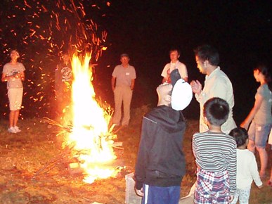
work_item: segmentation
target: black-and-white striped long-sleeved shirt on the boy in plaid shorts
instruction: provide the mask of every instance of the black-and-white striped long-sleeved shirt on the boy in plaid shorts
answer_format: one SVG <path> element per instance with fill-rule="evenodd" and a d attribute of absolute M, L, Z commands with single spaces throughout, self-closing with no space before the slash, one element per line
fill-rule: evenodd
<path fill-rule="evenodd" d="M 226 170 L 230 179 L 230 193 L 236 189 L 236 143 L 228 134 L 202 132 L 193 135 L 193 154 L 196 165 L 209 172 Z"/>

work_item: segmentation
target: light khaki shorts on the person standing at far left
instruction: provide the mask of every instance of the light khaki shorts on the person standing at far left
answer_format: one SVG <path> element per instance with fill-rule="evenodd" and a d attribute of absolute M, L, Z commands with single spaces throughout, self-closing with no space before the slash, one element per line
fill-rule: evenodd
<path fill-rule="evenodd" d="M 22 88 L 8 89 L 8 101 L 10 110 L 20 110 L 22 106 Z"/>

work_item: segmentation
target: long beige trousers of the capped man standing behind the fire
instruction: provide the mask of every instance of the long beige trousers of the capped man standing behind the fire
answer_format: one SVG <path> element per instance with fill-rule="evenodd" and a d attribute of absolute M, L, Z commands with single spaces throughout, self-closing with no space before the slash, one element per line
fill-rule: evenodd
<path fill-rule="evenodd" d="M 113 123 L 120 125 L 122 117 L 122 103 L 124 108 L 124 115 L 122 125 L 129 125 L 130 119 L 130 103 L 133 91 L 130 87 L 115 87 L 115 114 L 113 115 Z"/>

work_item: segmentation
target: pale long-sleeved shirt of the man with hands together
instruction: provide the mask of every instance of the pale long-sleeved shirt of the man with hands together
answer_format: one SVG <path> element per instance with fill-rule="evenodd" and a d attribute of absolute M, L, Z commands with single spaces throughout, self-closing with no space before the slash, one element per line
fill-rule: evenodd
<path fill-rule="evenodd" d="M 209 128 L 205 124 L 203 116 L 203 106 L 210 98 L 219 97 L 224 99 L 230 108 L 228 120 L 221 126 L 221 130 L 225 133 L 231 132 L 235 128 L 233 120 L 233 86 L 228 76 L 217 67 L 210 75 L 206 75 L 205 85 L 200 94 L 195 94 L 196 100 L 200 103 L 200 132 L 206 132 Z"/>

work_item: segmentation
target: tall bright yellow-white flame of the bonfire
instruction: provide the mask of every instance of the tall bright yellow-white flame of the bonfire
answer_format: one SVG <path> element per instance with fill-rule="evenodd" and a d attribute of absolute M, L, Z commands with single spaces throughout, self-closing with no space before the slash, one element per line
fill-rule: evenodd
<path fill-rule="evenodd" d="M 110 162 L 116 159 L 112 148 L 114 135 L 108 132 L 111 115 L 95 99 L 90 60 L 91 54 L 86 54 L 84 63 L 75 55 L 72 58 L 73 129 L 67 142 L 68 145 L 75 145 L 75 150 L 80 152 L 80 167 L 84 169 L 84 181 L 87 183 L 117 174 L 114 167 L 109 167 Z"/>

